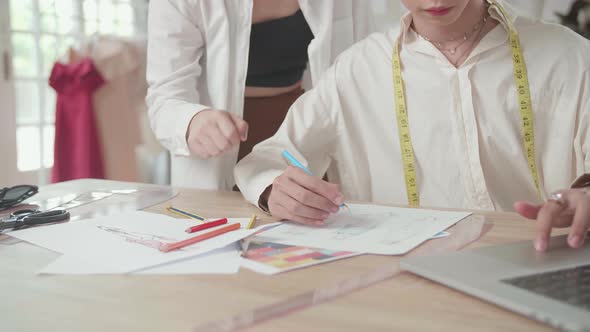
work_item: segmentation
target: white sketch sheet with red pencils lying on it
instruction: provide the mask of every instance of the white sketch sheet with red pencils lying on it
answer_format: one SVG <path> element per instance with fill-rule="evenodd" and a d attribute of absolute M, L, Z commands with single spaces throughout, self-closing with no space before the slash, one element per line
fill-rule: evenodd
<path fill-rule="evenodd" d="M 248 222 L 248 218 L 228 219 L 228 224 L 246 226 Z M 162 242 L 176 242 L 198 235 L 185 232 L 194 225 L 196 222 L 191 219 L 134 211 L 20 230 L 8 235 L 84 259 L 93 265 L 109 266 L 113 273 L 128 273 L 223 248 L 259 230 L 258 227 L 241 228 L 168 253 L 156 249 Z"/>

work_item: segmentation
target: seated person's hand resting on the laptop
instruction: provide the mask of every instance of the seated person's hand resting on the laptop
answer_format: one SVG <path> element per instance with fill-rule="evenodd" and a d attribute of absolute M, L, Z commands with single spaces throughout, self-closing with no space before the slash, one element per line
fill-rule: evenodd
<path fill-rule="evenodd" d="M 541 205 L 517 202 L 514 209 L 525 218 L 537 220 L 535 248 L 538 251 L 547 249 L 554 227 L 571 226 L 567 242 L 570 247 L 579 248 L 590 227 L 590 188 L 558 191 Z"/>

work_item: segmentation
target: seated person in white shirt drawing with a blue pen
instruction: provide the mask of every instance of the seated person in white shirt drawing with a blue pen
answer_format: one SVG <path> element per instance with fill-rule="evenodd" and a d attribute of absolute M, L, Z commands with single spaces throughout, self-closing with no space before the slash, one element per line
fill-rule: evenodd
<path fill-rule="evenodd" d="M 311 224 L 345 198 L 515 208 L 537 219 L 538 250 L 572 224 L 581 246 L 590 194 L 566 188 L 590 170 L 590 43 L 499 0 L 402 2 L 401 32 L 342 54 L 237 165 L 244 196 Z M 339 185 L 287 167 L 283 150 Z"/>

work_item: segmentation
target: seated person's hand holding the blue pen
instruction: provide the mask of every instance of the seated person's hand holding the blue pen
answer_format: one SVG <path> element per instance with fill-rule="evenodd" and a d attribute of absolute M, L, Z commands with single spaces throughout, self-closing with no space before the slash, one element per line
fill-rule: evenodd
<path fill-rule="evenodd" d="M 289 166 L 269 188 L 266 201 L 270 213 L 302 224 L 321 225 L 344 203 L 337 184 L 311 176 L 295 166 Z"/>

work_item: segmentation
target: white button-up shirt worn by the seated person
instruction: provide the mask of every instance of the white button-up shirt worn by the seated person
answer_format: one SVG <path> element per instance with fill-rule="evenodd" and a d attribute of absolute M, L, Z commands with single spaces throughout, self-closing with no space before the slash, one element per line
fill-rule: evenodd
<path fill-rule="evenodd" d="M 502 4 L 520 34 L 534 113 L 542 195 L 590 171 L 590 43 Z M 500 20 L 455 68 L 402 19 L 401 61 L 422 206 L 511 210 L 538 201 L 523 146 L 507 24 Z M 392 50 L 399 31 L 373 34 L 342 54 L 291 108 L 271 139 L 236 167 L 257 204 L 289 150 L 328 172 L 346 199 L 407 204 L 396 122 Z"/>

